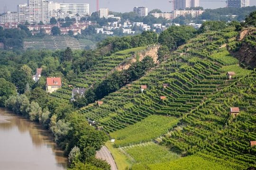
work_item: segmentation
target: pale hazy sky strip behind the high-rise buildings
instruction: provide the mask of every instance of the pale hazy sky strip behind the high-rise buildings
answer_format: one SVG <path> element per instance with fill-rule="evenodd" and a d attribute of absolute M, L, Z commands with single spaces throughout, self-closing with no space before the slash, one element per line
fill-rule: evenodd
<path fill-rule="evenodd" d="M 89 3 L 90 12 L 96 11 L 96 0 L 50 0 L 54 2 L 65 3 Z M 163 12 L 172 10 L 170 0 L 100 0 L 100 8 L 109 8 L 111 11 L 116 12 L 129 12 L 135 6 L 146 6 L 148 10 L 155 8 L 161 9 Z M 203 8 L 223 8 L 225 2 L 210 2 L 211 0 L 203 0 L 200 6 Z M 214 1 L 214 0 L 213 0 Z M 217 0 L 221 1 L 221 0 Z M 224 1 L 224 0 L 223 0 Z M 3 12 L 4 6 L 7 6 L 9 11 L 17 11 L 18 4 L 27 3 L 27 0 L 0 0 L 0 12 Z M 256 5 L 256 0 L 250 0 L 250 5 Z"/>

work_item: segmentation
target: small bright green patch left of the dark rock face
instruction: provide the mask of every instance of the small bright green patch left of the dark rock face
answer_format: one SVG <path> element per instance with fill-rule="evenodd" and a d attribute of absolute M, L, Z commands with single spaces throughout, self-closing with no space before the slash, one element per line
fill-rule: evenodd
<path fill-rule="evenodd" d="M 229 51 L 226 49 L 224 51 L 212 54 L 211 57 L 224 62 L 226 66 L 232 65 L 232 64 L 238 64 L 238 59 L 232 57 Z"/>

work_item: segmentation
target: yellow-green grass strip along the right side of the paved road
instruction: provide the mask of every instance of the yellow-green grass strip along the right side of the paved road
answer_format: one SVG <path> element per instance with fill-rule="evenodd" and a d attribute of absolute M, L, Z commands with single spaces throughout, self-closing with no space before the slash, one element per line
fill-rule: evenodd
<path fill-rule="evenodd" d="M 121 153 L 118 148 L 114 148 L 110 141 L 105 145 L 114 157 L 118 170 L 126 170 L 127 167 L 131 167 L 130 159 L 125 154 Z"/>

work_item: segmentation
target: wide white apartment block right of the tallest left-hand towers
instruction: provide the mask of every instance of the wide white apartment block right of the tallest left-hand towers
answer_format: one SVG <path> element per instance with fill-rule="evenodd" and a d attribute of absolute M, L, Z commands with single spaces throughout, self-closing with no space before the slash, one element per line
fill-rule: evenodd
<path fill-rule="evenodd" d="M 80 16 L 86 16 L 89 15 L 89 4 L 61 3 L 60 10 L 70 12 L 73 15 L 79 14 Z"/>

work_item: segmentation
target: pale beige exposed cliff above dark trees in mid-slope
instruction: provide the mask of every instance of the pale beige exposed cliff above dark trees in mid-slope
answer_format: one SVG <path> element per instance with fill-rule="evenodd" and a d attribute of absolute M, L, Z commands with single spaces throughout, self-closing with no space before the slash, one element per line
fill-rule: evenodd
<path fill-rule="evenodd" d="M 153 59 L 153 61 L 155 63 L 157 63 L 157 51 L 159 49 L 160 46 L 155 45 L 152 47 L 147 47 L 146 50 L 138 52 L 137 54 L 133 55 L 130 59 L 128 59 L 126 62 L 121 63 L 119 66 L 117 66 L 116 68 L 114 68 L 114 70 L 117 71 L 121 71 L 121 70 L 127 70 L 132 63 L 135 63 L 137 61 L 137 59 L 139 61 L 141 61 L 142 59 L 144 59 L 146 56 L 149 56 Z"/>

